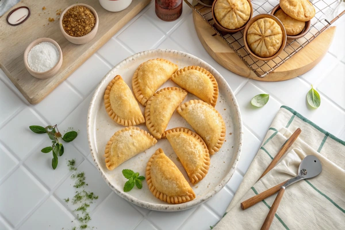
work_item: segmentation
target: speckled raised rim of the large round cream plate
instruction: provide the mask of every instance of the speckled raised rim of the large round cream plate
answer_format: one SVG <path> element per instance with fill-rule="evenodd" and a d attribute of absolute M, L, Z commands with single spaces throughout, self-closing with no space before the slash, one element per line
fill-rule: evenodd
<path fill-rule="evenodd" d="M 237 151 L 235 153 L 235 156 L 234 156 L 235 157 L 234 164 L 231 166 L 231 169 L 230 169 L 229 173 L 226 174 L 224 179 L 221 180 L 221 182 L 219 184 L 217 184 L 217 186 L 215 186 L 215 188 L 212 191 L 210 191 L 209 193 L 206 194 L 206 197 L 204 196 L 204 197 L 202 197 L 202 199 L 195 199 L 195 200 L 191 200 L 191 201 L 188 201 L 188 202 L 185 202 L 185 203 L 180 203 L 180 204 L 169 204 L 169 203 L 166 203 L 166 204 L 155 204 L 155 203 L 149 203 L 149 202 L 146 202 L 146 201 L 139 200 L 139 199 L 131 196 L 130 194 L 128 194 L 126 192 L 123 192 L 123 191 L 120 191 L 120 190 L 116 189 L 114 186 L 112 186 L 112 184 L 108 180 L 108 178 L 105 177 L 105 173 L 101 170 L 99 164 L 96 162 L 96 154 L 97 154 L 97 152 L 96 152 L 96 150 L 94 150 L 92 148 L 92 145 L 91 145 L 91 122 L 92 121 L 90 120 L 90 117 L 91 117 L 90 114 L 92 112 L 92 108 L 95 107 L 95 102 L 96 102 L 96 97 L 98 95 L 98 92 L 100 91 L 100 88 L 102 87 L 103 82 L 105 81 L 107 76 L 110 74 L 110 72 L 112 72 L 114 69 L 116 69 L 122 63 L 127 62 L 128 60 L 134 60 L 134 58 L 136 58 L 136 57 L 141 57 L 142 55 L 145 55 L 145 53 L 166 53 L 166 52 L 177 52 L 178 54 L 182 54 L 184 56 L 194 58 L 194 59 L 200 61 L 201 63 L 205 64 L 209 68 L 211 68 L 211 71 L 216 72 L 221 78 L 223 78 L 223 81 L 226 84 L 227 89 L 229 90 L 228 93 L 230 93 L 231 97 L 233 98 L 233 103 L 234 103 L 234 106 L 236 108 L 236 112 L 234 112 L 234 114 L 236 114 L 237 117 L 238 117 L 238 129 L 239 129 L 238 149 L 237 149 Z M 93 95 L 92 95 L 92 98 L 91 98 L 91 101 L 90 101 L 90 104 L 89 104 L 89 108 L 88 108 L 88 113 L 87 113 L 87 137 L 88 137 L 89 149 L 90 149 L 90 152 L 91 152 L 92 160 L 93 160 L 96 168 L 100 172 L 103 180 L 105 180 L 105 182 L 111 188 L 111 190 L 113 190 L 121 198 L 124 198 L 125 200 L 127 200 L 127 201 L 129 201 L 131 203 L 134 203 L 135 205 L 137 205 L 139 207 L 150 209 L 150 210 L 155 210 L 155 211 L 181 211 L 181 210 L 186 210 L 186 209 L 190 209 L 190 208 L 196 207 L 199 204 L 207 201 L 209 198 L 211 198 L 216 193 L 218 193 L 226 185 L 226 183 L 231 179 L 231 177 L 233 176 L 233 174 L 234 174 L 234 172 L 235 172 L 235 170 L 237 168 L 238 161 L 240 159 L 240 155 L 241 155 L 241 151 L 242 151 L 242 146 L 243 146 L 243 122 L 242 122 L 240 108 L 239 108 L 239 105 L 238 105 L 238 102 L 237 102 L 237 99 L 235 97 L 235 94 L 234 94 L 233 90 L 230 88 L 228 82 L 224 79 L 224 77 L 214 67 L 212 67 L 210 64 L 208 64 L 206 61 L 204 61 L 204 60 L 194 56 L 193 54 L 190 54 L 190 53 L 187 53 L 187 52 L 184 52 L 184 51 L 178 51 L 178 50 L 173 50 L 173 49 L 150 49 L 150 50 L 144 50 L 144 51 L 140 51 L 140 52 L 137 52 L 135 54 L 132 54 L 131 56 L 129 56 L 129 57 L 125 58 L 124 60 L 118 62 L 100 80 L 100 82 L 98 83 L 97 87 L 93 91 Z"/>

